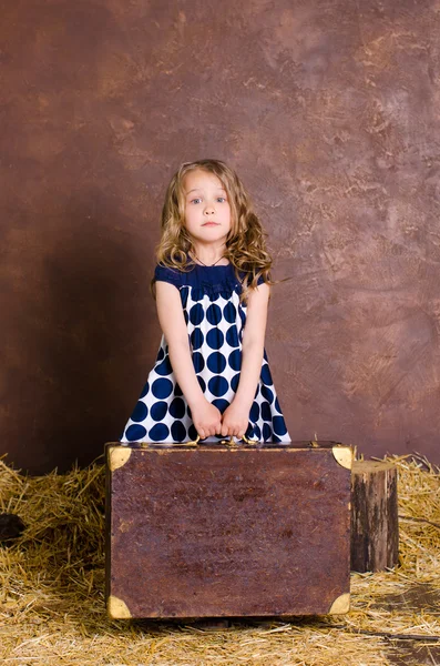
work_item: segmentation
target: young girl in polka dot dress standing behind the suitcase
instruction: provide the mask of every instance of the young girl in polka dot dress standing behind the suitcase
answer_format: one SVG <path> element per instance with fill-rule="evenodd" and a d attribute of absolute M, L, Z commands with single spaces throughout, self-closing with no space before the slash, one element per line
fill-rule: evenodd
<path fill-rule="evenodd" d="M 175 173 L 157 260 L 162 342 L 121 442 L 290 442 L 264 351 L 272 260 L 225 163 Z"/>

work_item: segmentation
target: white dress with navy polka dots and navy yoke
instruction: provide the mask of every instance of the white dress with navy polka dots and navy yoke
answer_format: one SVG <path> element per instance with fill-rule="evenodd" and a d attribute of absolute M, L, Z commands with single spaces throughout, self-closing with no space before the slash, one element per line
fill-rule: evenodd
<path fill-rule="evenodd" d="M 246 304 L 232 264 L 195 265 L 190 272 L 156 266 L 157 281 L 174 284 L 181 294 L 194 370 L 206 398 L 222 413 L 239 382 Z M 164 336 L 154 367 L 125 425 L 122 444 L 131 442 L 186 442 L 197 433 L 191 410 L 176 383 Z M 266 352 L 246 437 L 260 442 L 290 442 L 275 392 Z M 205 442 L 218 442 L 211 436 Z"/>

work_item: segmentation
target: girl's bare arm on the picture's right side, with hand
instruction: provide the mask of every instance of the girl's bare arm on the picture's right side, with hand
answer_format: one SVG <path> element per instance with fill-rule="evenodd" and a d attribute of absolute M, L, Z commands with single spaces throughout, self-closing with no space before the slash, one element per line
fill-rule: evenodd
<path fill-rule="evenodd" d="M 269 285 L 263 283 L 250 290 L 248 295 L 239 383 L 233 402 L 223 414 L 224 437 L 234 435 L 242 438 L 249 424 L 249 412 L 262 373 L 269 294 Z"/>

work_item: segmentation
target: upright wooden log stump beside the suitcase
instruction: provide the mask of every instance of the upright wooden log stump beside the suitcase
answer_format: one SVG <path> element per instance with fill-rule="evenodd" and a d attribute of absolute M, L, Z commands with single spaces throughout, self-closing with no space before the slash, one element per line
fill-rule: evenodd
<path fill-rule="evenodd" d="M 351 571 L 379 572 L 399 557 L 397 467 L 355 461 L 351 470 Z"/>

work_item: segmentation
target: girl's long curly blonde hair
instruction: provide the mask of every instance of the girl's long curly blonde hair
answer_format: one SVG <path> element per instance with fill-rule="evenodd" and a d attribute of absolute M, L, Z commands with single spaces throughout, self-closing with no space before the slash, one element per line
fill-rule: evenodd
<path fill-rule="evenodd" d="M 227 192 L 232 224 L 226 239 L 225 258 L 233 264 L 236 276 L 243 284 L 242 299 L 246 299 L 249 289 L 257 286 L 260 276 L 267 284 L 274 284 L 269 274 L 273 262 L 266 250 L 266 233 L 238 175 L 221 160 L 184 162 L 171 179 L 162 209 L 162 238 L 156 248 L 157 262 L 180 271 L 194 268 L 190 258 L 194 248 L 185 228 L 183 188 L 185 176 L 191 171 L 213 173 Z"/>

